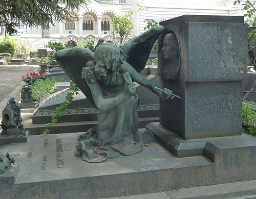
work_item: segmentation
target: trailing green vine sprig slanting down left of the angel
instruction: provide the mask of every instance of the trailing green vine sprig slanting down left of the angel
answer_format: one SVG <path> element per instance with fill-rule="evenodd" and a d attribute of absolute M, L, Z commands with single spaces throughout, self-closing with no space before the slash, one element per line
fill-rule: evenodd
<path fill-rule="evenodd" d="M 70 86 L 70 90 L 71 92 L 67 94 L 66 100 L 60 105 L 60 107 L 56 108 L 56 113 L 52 115 L 52 121 L 50 123 L 47 123 L 46 129 L 42 135 L 47 135 L 50 133 L 49 128 L 54 127 L 54 124 L 58 121 L 57 117 L 64 116 L 68 105 L 73 102 L 73 99 L 74 99 L 73 95 L 74 94 L 79 95 L 78 87 L 75 84 L 73 86 Z"/>

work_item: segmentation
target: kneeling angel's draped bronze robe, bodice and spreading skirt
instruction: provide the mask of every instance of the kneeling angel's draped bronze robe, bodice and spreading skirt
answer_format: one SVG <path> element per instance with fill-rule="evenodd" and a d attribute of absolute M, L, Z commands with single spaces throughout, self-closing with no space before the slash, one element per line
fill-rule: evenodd
<path fill-rule="evenodd" d="M 99 82 L 103 98 L 113 98 L 127 89 L 122 74 L 113 72 Z M 98 111 L 98 125 L 80 135 L 75 151 L 88 162 L 104 162 L 120 155 L 133 155 L 143 150 L 142 138 L 152 139 L 150 132 L 139 130 L 138 100 L 130 97 L 109 111 Z"/>

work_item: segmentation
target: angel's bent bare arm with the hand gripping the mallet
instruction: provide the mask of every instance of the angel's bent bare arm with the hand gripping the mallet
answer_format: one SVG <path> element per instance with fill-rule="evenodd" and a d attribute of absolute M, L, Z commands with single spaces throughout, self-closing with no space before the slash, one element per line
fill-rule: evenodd
<path fill-rule="evenodd" d="M 136 91 L 135 84 L 133 83 L 130 84 L 128 89 L 120 95 L 113 98 L 103 98 L 103 94 L 98 82 L 88 83 L 88 85 L 92 91 L 95 105 L 101 112 L 109 111 L 110 109 L 118 106 L 126 99 L 130 98 L 134 94 L 134 91 Z"/>

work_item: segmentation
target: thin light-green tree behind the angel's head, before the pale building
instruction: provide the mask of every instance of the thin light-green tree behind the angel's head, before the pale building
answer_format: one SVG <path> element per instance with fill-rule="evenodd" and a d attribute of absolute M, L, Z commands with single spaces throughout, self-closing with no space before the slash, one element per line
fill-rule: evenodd
<path fill-rule="evenodd" d="M 132 36 L 134 29 L 132 15 L 134 14 L 134 12 L 135 10 L 131 10 L 124 15 L 116 15 L 113 17 L 112 25 L 115 44 L 122 45 L 127 39 Z"/>

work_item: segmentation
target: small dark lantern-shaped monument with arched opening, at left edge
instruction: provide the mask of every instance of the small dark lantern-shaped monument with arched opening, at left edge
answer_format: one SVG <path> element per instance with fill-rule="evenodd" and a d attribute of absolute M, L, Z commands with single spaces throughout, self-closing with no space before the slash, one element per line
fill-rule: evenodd
<path fill-rule="evenodd" d="M 14 98 L 3 110 L 2 133 L 0 134 L 0 145 L 17 142 L 27 142 L 28 131 L 22 124 L 22 116 L 20 116 L 20 106 L 17 105 Z"/>

